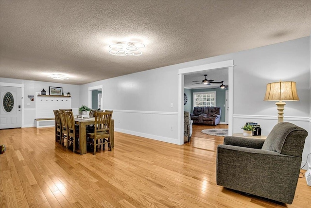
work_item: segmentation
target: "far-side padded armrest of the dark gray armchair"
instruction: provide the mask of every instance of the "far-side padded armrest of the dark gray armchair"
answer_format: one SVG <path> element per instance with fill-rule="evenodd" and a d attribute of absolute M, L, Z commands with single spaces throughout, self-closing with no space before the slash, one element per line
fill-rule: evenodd
<path fill-rule="evenodd" d="M 224 145 L 261 149 L 265 139 L 244 138 L 238 136 L 225 136 Z"/>

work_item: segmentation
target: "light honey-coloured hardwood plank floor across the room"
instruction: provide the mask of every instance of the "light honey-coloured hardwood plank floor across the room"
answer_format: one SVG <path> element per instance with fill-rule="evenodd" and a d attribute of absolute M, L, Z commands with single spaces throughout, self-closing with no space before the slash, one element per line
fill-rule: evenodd
<path fill-rule="evenodd" d="M 1 208 L 311 208 L 300 178 L 292 205 L 217 186 L 216 147 L 223 137 L 194 126 L 190 143 L 168 144 L 115 132 L 112 151 L 73 153 L 54 128 L 0 130 Z M 217 125 L 212 128 L 227 128 Z"/>

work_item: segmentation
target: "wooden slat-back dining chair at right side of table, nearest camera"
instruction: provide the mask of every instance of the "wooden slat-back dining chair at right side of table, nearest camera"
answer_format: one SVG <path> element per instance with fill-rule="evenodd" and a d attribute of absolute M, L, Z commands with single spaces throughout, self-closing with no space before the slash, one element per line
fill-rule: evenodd
<path fill-rule="evenodd" d="M 112 112 L 96 112 L 95 117 L 95 131 L 94 133 L 87 133 L 87 144 L 93 146 L 93 154 L 96 153 L 97 146 L 103 145 L 103 150 L 105 149 L 105 144 L 108 144 L 108 149 L 111 151 L 110 143 L 110 124 Z"/>

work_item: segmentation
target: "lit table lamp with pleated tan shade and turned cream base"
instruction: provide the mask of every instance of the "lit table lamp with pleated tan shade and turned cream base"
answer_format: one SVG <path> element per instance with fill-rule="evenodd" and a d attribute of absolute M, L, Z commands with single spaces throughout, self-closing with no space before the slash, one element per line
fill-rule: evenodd
<path fill-rule="evenodd" d="M 283 122 L 283 111 L 285 102 L 282 101 L 298 101 L 299 97 L 296 90 L 296 82 L 273 82 L 267 84 L 266 95 L 264 101 L 277 101 L 278 110 L 277 123 Z"/>

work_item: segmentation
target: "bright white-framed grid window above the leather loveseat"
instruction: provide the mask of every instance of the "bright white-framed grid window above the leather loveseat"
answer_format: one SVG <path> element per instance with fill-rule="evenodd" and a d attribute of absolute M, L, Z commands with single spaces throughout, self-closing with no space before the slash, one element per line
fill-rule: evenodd
<path fill-rule="evenodd" d="M 216 92 L 193 93 L 194 107 L 215 107 Z"/>

